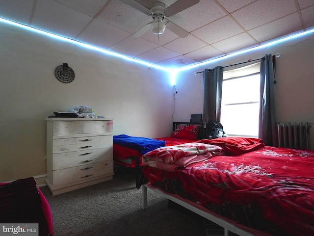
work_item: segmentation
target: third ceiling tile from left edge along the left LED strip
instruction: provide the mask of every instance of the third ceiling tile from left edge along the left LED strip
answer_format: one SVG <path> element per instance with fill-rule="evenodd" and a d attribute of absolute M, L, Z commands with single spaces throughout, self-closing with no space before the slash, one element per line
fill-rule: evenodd
<path fill-rule="evenodd" d="M 130 36 L 130 33 L 94 20 L 77 38 L 78 41 L 109 49 Z"/>

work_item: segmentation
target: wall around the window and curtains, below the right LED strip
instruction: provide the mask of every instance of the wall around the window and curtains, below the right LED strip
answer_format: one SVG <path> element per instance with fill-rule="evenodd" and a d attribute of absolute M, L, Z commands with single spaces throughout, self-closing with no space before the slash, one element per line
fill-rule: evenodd
<path fill-rule="evenodd" d="M 204 69 L 228 66 L 280 53 L 276 58 L 276 114 L 279 122 L 314 123 L 314 33 L 273 44 L 248 53 L 214 60 L 177 74 L 175 121 L 188 121 L 190 114 L 203 113 Z M 245 65 L 245 64 L 244 64 Z M 314 124 L 311 128 L 311 149 L 314 150 Z"/>

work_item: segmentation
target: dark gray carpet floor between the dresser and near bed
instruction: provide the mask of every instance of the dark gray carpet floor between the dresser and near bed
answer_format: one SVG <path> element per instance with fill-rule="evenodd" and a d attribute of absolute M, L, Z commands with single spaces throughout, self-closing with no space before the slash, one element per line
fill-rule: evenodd
<path fill-rule="evenodd" d="M 53 217 L 54 236 L 216 236 L 209 221 L 148 189 L 142 209 L 142 189 L 135 173 L 115 167 L 113 180 L 52 196 L 42 187 Z M 171 204 L 171 206 L 173 206 Z M 214 231 L 216 232 L 216 231 Z M 223 232 L 222 232 L 223 233 Z"/>

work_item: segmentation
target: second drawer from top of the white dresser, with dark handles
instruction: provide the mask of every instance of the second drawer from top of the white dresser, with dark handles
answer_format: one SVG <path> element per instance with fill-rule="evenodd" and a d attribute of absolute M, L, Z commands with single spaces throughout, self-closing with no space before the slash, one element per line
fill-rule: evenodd
<path fill-rule="evenodd" d="M 52 141 L 52 153 L 68 153 L 112 146 L 112 135 L 59 138 Z"/>

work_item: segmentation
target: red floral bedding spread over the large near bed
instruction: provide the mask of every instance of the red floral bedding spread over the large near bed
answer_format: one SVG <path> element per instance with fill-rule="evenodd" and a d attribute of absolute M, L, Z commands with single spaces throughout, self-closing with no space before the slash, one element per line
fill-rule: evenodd
<path fill-rule="evenodd" d="M 258 139 L 222 141 L 200 141 L 220 146 L 225 150 L 222 155 L 175 172 L 146 166 L 144 178 L 214 212 L 229 211 L 229 215 L 225 212 L 227 217 L 236 215 L 226 210 L 229 205 L 256 206 L 260 221 L 276 228 L 268 229 L 273 235 L 314 235 L 314 151 L 264 146 Z M 166 186 L 167 181 L 172 184 Z M 181 187 L 172 189 L 173 186 Z M 259 222 L 250 227 L 260 227 Z"/>

